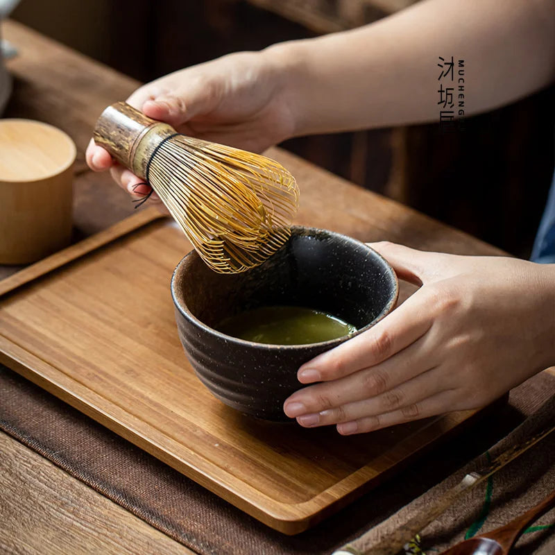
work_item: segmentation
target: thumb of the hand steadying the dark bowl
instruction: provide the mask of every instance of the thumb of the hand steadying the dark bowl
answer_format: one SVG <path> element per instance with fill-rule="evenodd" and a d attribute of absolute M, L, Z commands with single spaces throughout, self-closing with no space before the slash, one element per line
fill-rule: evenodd
<path fill-rule="evenodd" d="M 447 259 L 455 259 L 454 255 L 429 253 L 425 250 L 406 247 L 389 241 L 367 243 L 382 255 L 395 270 L 401 280 L 422 285 L 445 278 Z"/>

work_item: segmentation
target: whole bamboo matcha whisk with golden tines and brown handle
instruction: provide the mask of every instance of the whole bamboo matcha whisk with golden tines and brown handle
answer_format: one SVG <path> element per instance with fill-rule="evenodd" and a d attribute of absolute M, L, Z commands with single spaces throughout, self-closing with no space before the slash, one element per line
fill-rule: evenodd
<path fill-rule="evenodd" d="M 125 102 L 104 110 L 94 142 L 151 185 L 215 271 L 252 268 L 287 241 L 298 187 L 278 162 L 181 135 Z"/>

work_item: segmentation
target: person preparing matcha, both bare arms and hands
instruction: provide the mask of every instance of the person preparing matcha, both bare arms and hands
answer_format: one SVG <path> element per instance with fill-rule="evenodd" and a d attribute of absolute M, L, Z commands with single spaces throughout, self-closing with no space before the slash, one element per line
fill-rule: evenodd
<path fill-rule="evenodd" d="M 472 67 L 470 115 L 555 79 L 554 15 L 555 0 L 422 1 L 353 31 L 178 71 L 141 87 L 130 103 L 182 133 L 263 151 L 294 135 L 435 121 L 430 65 L 455 53 Z M 87 162 L 112 167 L 132 193 L 140 181 L 98 146 L 89 146 Z M 148 193 L 139 187 L 135 194 Z M 285 413 L 305 427 L 368 432 L 477 408 L 554 365 L 549 229 L 540 246 L 550 264 L 373 244 L 420 289 L 375 327 L 307 361 L 298 377 L 311 385 L 291 395 Z"/>

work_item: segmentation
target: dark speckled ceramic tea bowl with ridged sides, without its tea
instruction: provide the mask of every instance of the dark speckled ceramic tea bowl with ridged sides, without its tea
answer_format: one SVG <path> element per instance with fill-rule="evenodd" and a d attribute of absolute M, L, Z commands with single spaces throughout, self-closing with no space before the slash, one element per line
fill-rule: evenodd
<path fill-rule="evenodd" d="M 293 226 L 287 244 L 244 273 L 215 273 L 191 251 L 173 273 L 171 294 L 181 343 L 203 384 L 242 413 L 287 420 L 282 406 L 300 388 L 299 366 L 349 336 L 309 345 L 265 345 L 214 327 L 259 306 L 298 305 L 337 316 L 359 334 L 393 309 L 398 281 L 391 266 L 364 243 Z"/>

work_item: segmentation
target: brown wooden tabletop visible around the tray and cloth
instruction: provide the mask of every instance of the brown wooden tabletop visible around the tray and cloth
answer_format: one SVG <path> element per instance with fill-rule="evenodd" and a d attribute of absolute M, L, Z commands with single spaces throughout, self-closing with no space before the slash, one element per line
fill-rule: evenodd
<path fill-rule="evenodd" d="M 139 83 L 15 22 L 3 24 L 3 36 L 19 49 L 19 56 L 8 62 L 15 83 L 4 117 L 52 123 L 77 144 L 74 221 L 78 236 L 102 230 L 131 214 L 133 205 L 127 194 L 107 175 L 89 171 L 84 151 L 103 108 L 126 99 Z M 272 155 L 285 162 L 300 183 L 303 222 L 333 229 L 334 222 L 341 221 L 353 236 L 367 241 L 388 239 L 425 250 L 500 254 L 298 157 L 278 150 Z M 0 278 L 13 271 L 0 266 Z M 4 552 L 192 553 L 1 432 L 0 487 L 0 547 Z"/>

